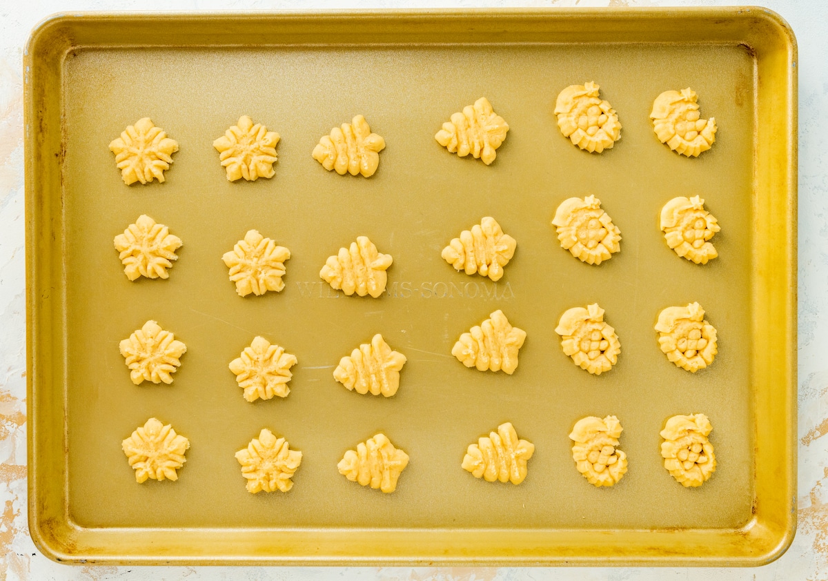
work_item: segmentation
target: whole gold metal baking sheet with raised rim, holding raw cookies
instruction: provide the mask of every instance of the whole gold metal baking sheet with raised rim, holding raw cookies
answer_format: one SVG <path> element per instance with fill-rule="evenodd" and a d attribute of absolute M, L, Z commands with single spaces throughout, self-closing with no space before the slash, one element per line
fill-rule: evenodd
<path fill-rule="evenodd" d="M 691 33 L 673 40 L 669 30 Z M 796 57 L 777 17 L 89 14 L 42 24 L 26 58 L 31 528 L 47 555 L 760 564 L 787 547 Z M 552 113 L 561 89 L 587 80 L 623 125 L 601 155 L 561 137 Z M 657 94 L 686 86 L 719 125 L 713 149 L 692 160 L 657 142 L 648 118 Z M 433 137 L 481 95 L 511 127 L 489 167 Z M 310 157 L 357 113 L 388 144 L 368 180 Z M 212 142 L 243 114 L 282 136 L 272 180 L 229 183 L 219 166 Z M 181 151 L 165 184 L 128 187 L 107 145 L 145 116 Z M 597 267 L 562 250 L 550 225 L 563 199 L 586 194 L 623 236 L 622 252 Z M 720 257 L 706 266 L 676 257 L 658 229 L 662 204 L 694 194 L 722 227 Z M 139 214 L 184 242 L 169 281 L 123 275 L 112 238 Z M 517 239 L 497 284 L 440 257 L 485 215 Z M 228 281 L 220 258 L 250 228 L 291 249 L 282 293 L 241 299 Z M 394 258 L 378 300 L 343 296 L 318 276 L 357 235 Z M 692 300 L 720 336 L 714 365 L 696 375 L 667 361 L 652 329 L 659 310 Z M 554 333 L 564 310 L 596 301 L 622 343 L 601 377 L 575 367 Z M 450 355 L 497 309 L 527 331 L 511 377 Z M 147 319 L 187 345 L 171 386 L 132 385 L 118 353 Z M 388 400 L 346 391 L 331 374 L 374 333 L 408 358 Z M 299 359 L 284 400 L 244 401 L 227 368 L 257 334 Z M 659 454 L 664 420 L 692 412 L 710 417 L 719 461 L 699 489 L 678 485 Z M 575 470 L 567 435 L 580 417 L 608 414 L 623 424 L 629 472 L 596 489 Z M 190 439 L 177 483 L 137 485 L 123 456 L 121 440 L 150 416 Z M 536 445 L 519 487 L 460 469 L 466 446 L 507 420 Z M 287 494 L 244 489 L 233 453 L 262 427 L 302 451 Z M 336 470 L 344 450 L 378 431 L 411 456 L 392 495 Z"/>

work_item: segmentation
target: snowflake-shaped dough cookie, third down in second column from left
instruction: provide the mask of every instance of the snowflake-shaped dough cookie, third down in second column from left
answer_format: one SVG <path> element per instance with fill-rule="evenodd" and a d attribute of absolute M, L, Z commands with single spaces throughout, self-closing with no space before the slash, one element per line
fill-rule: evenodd
<path fill-rule="evenodd" d="M 244 399 L 269 400 L 273 396 L 287 397 L 291 392 L 291 367 L 296 365 L 296 355 L 285 353 L 278 345 L 272 345 L 264 337 L 256 337 L 250 347 L 230 362 L 238 387 L 244 390 Z"/>

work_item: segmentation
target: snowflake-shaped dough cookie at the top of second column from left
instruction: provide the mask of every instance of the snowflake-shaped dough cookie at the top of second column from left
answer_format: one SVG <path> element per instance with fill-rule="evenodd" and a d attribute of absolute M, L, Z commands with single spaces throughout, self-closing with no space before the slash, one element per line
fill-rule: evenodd
<path fill-rule="evenodd" d="M 276 175 L 273 164 L 277 161 L 276 145 L 279 134 L 267 131 L 261 123 L 253 124 L 247 115 L 238 118 L 222 137 L 213 142 L 219 151 L 221 165 L 227 170 L 230 181 L 244 178 L 248 181 L 259 177 L 272 178 Z"/>

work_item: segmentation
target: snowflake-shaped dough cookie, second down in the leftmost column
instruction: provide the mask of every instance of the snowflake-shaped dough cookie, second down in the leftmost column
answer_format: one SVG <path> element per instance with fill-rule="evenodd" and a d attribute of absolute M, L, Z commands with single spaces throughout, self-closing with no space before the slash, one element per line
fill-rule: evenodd
<path fill-rule="evenodd" d="M 170 228 L 142 214 L 134 224 L 129 224 L 123 234 L 113 240 L 123 271 L 130 281 L 138 276 L 169 278 L 167 268 L 178 260 L 176 250 L 181 248 L 181 238 L 173 236 Z"/>

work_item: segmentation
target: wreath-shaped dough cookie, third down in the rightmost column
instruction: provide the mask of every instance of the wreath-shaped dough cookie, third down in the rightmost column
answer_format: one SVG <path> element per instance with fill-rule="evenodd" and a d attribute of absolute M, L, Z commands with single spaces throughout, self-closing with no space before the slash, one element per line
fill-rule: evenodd
<path fill-rule="evenodd" d="M 698 303 L 672 306 L 658 314 L 658 345 L 677 367 L 697 372 L 713 363 L 716 329 L 705 321 L 705 310 Z"/>

